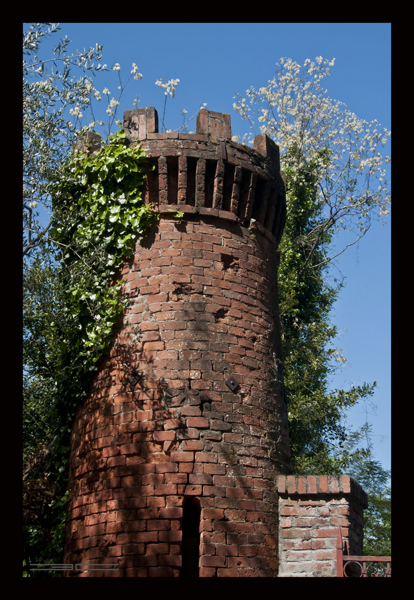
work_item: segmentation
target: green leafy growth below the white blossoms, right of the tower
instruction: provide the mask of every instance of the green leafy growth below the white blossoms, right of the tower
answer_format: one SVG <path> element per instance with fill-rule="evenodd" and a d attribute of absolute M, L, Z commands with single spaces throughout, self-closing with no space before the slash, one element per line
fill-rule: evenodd
<path fill-rule="evenodd" d="M 340 473 L 344 413 L 372 395 L 376 384 L 329 389 L 332 374 L 345 361 L 334 346 L 337 329 L 330 323 L 341 284 L 328 283 L 328 268 L 321 260 L 332 233 L 320 239 L 308 260 L 305 240 L 321 218 L 317 181 L 311 163 L 293 176 L 288 161 L 285 157 L 287 217 L 278 281 L 293 467 L 298 473 Z M 310 268 L 317 263 L 318 268 Z"/>

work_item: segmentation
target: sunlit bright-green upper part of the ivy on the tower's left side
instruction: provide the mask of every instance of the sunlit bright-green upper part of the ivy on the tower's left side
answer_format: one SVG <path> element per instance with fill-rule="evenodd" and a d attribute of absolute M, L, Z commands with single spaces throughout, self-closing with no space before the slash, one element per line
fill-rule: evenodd
<path fill-rule="evenodd" d="M 74 403 L 109 349 L 125 305 L 119 269 L 158 217 L 142 200 L 146 160 L 119 131 L 104 148 L 74 158 L 56 186 L 53 238 L 60 247 L 63 302 L 53 325 L 61 337 L 58 385 L 71 388 Z"/>

